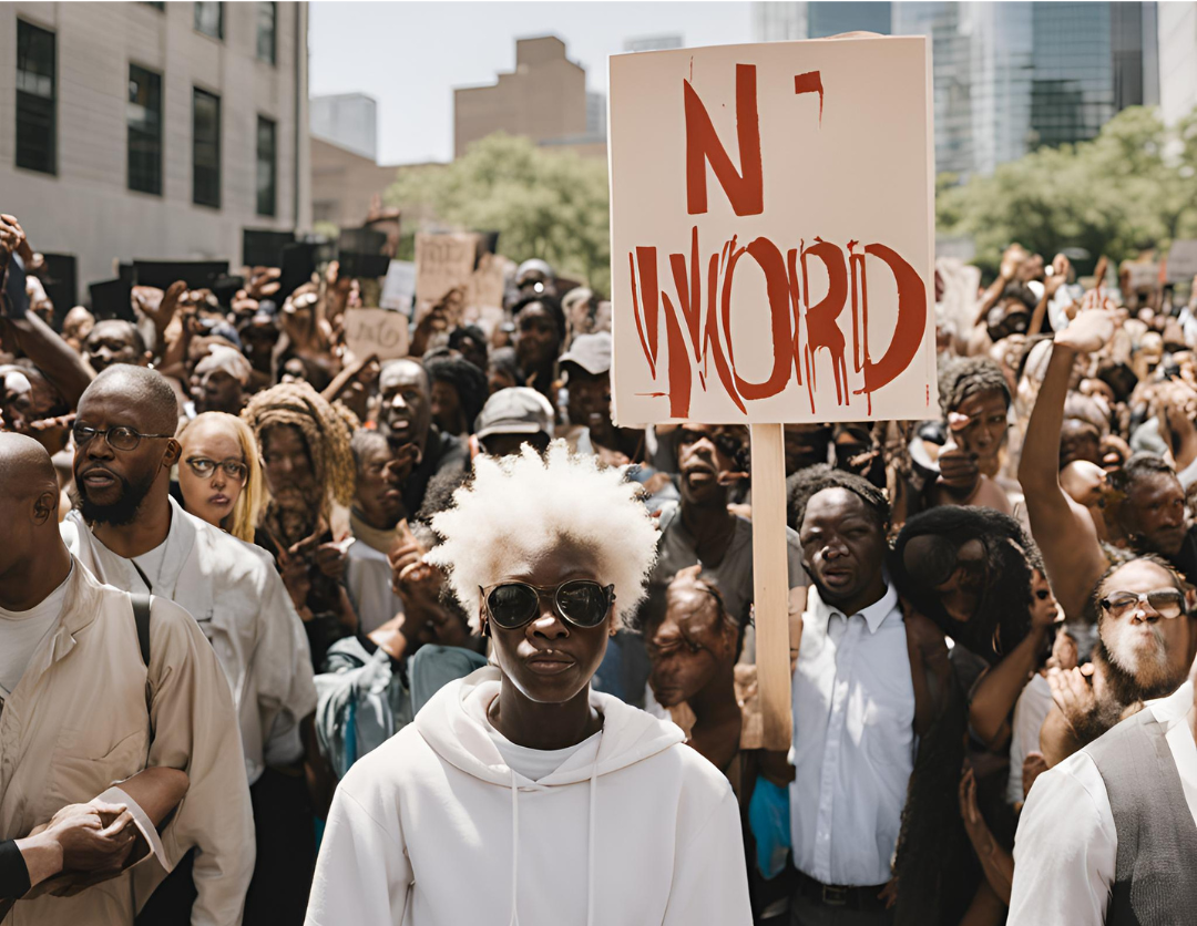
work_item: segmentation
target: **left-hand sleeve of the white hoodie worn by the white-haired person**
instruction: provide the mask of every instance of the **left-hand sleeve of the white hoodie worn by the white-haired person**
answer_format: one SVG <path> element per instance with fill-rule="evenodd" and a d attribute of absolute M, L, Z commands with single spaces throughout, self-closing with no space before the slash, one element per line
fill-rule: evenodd
<path fill-rule="evenodd" d="M 305 926 L 406 922 L 412 865 L 402 831 L 394 829 L 375 820 L 341 782 L 320 843 Z"/>

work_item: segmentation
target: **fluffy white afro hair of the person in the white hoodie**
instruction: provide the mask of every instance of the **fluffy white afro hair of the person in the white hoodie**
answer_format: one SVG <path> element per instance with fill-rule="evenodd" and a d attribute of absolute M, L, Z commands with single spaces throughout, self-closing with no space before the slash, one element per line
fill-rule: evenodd
<path fill-rule="evenodd" d="M 474 459 L 473 480 L 432 518 L 444 542 L 427 561 L 448 573 L 475 633 L 479 589 L 505 578 L 510 563 L 563 542 L 594 550 L 596 578 L 615 586 L 616 623 L 628 625 L 644 598 L 658 535 L 625 469 L 601 469 L 596 457 L 571 453 L 564 440 L 553 441 L 543 459 L 527 444 L 518 455 Z"/>

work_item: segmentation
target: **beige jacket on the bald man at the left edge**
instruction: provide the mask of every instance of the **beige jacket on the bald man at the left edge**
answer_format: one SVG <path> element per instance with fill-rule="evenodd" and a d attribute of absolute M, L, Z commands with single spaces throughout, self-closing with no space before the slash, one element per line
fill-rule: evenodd
<path fill-rule="evenodd" d="M 163 830 L 165 855 L 174 867 L 196 847 L 194 926 L 237 926 L 254 871 L 254 821 L 212 647 L 186 610 L 154 598 L 147 672 L 129 596 L 78 560 L 68 583 L 57 628 L 0 713 L 0 839 L 24 836 L 142 768 L 181 768 L 190 788 Z M 150 855 L 74 897 L 18 901 L 5 926 L 130 926 L 165 876 Z"/>

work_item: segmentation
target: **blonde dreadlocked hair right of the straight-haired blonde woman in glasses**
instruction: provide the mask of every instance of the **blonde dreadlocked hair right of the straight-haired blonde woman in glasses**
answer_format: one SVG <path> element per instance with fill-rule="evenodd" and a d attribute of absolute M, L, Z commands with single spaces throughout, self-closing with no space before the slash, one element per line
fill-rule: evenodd
<path fill-rule="evenodd" d="M 358 427 L 357 415 L 344 406 L 330 406 L 308 383 L 281 383 L 250 398 L 241 416 L 254 430 L 259 447 L 272 427 L 299 428 L 311 456 L 312 476 L 328 487 L 338 505 L 352 504 L 356 467 L 350 437 Z"/>

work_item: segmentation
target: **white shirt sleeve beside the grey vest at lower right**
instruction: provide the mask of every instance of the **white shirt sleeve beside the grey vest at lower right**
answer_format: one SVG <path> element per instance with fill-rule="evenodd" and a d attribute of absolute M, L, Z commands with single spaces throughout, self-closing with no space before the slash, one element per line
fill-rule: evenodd
<path fill-rule="evenodd" d="M 1101 926 L 1117 857 L 1101 773 L 1088 754 L 1077 753 L 1040 775 L 1022 808 L 1008 926 Z"/>

